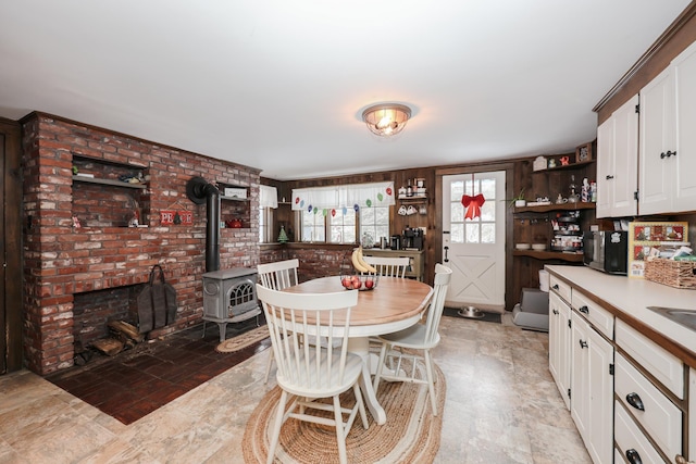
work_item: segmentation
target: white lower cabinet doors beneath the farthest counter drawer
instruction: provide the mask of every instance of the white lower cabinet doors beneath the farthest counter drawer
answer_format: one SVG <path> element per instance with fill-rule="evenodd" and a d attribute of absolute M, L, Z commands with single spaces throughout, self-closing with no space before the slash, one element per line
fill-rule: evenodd
<path fill-rule="evenodd" d="M 613 346 L 571 312 L 570 412 L 593 462 L 613 460 Z"/>

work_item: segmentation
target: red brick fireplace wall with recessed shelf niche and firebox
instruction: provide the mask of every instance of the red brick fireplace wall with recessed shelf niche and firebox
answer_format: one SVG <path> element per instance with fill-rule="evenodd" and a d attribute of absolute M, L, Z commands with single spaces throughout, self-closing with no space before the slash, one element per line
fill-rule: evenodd
<path fill-rule="evenodd" d="M 178 310 L 175 324 L 150 337 L 201 321 L 206 206 L 186 197 L 194 176 L 248 189 L 248 202 L 222 205 L 221 218 L 239 218 L 244 227 L 221 230 L 220 263 L 258 264 L 258 170 L 44 113 L 22 124 L 29 369 L 47 375 L 72 366 L 75 342 L 103 336 L 100 317 L 127 311 L 111 299 L 140 288 L 154 264 L 176 289 Z M 142 185 L 124 188 L 129 176 Z M 160 212 L 170 210 L 191 213 L 192 224 L 162 225 Z M 145 227 L 128 227 L 134 215 Z"/>

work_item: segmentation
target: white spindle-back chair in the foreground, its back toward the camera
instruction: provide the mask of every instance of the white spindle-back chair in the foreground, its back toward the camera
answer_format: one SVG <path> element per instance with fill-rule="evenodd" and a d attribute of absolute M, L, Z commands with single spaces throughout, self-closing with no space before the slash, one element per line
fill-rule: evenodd
<path fill-rule="evenodd" d="M 277 364 L 276 379 L 283 390 L 266 463 L 274 461 L 281 427 L 289 417 L 336 427 L 339 461 L 347 463 L 346 436 L 358 413 L 368 428 L 360 391 L 363 360 L 348 352 L 350 310 L 358 303 L 358 291 L 288 293 L 257 285 L 257 294 L 263 304 Z M 327 339 L 325 348 L 323 343 L 304 342 L 316 337 Z M 335 340 L 339 341 L 337 347 Z M 343 407 L 339 396 L 351 388 L 356 404 L 352 409 Z M 296 398 L 285 411 L 288 394 Z M 332 398 L 333 404 L 314 401 L 322 398 Z M 333 412 L 333 418 L 321 411 Z"/>

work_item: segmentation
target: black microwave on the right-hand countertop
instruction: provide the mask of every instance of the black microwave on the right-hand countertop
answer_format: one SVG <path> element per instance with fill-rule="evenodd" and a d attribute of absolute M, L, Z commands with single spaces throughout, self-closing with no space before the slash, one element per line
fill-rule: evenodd
<path fill-rule="evenodd" d="M 629 269 L 629 233 L 598 230 L 583 234 L 583 262 L 607 274 L 625 276 Z"/>

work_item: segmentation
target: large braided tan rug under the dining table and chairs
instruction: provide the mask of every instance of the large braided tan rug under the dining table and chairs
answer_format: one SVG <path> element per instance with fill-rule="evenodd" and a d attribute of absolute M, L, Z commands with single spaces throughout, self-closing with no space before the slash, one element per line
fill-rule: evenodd
<path fill-rule="evenodd" d="M 380 384 L 377 400 L 386 411 L 387 422 L 376 425 L 368 411 L 370 427 L 365 430 L 360 417 L 356 418 L 346 438 L 348 462 L 393 464 L 432 463 L 435 460 L 439 449 L 446 385 L 439 367 L 434 366 L 434 375 L 437 416 L 433 416 L 426 385 Z M 281 388 L 276 386 L 263 397 L 247 422 L 241 440 L 247 464 L 265 463 L 270 428 L 275 421 L 279 398 Z M 352 391 L 341 394 L 340 403 L 351 407 L 355 404 Z M 281 428 L 275 456 L 275 462 L 283 464 L 338 463 L 335 428 L 288 418 Z"/>

